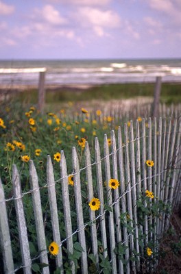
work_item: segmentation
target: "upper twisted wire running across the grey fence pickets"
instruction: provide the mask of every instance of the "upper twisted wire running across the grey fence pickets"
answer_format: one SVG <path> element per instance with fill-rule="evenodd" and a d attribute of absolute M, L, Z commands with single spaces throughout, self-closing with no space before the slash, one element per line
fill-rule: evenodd
<path fill-rule="evenodd" d="M 173 131 L 173 132 L 176 132 L 176 133 L 180 133 L 179 131 Z M 163 134 L 163 133 L 162 133 Z M 164 133 L 165 134 L 165 133 Z M 155 134 L 153 136 L 156 136 Z M 77 173 L 70 173 L 69 175 L 77 175 L 79 174 L 81 171 L 84 171 L 85 169 L 88 168 L 88 166 L 94 166 L 95 164 L 100 164 L 101 162 L 103 162 L 106 158 L 110 157 L 111 155 L 114 155 L 116 154 L 120 149 L 123 149 L 124 147 L 129 147 L 130 143 L 131 142 L 136 142 L 136 140 L 141 140 L 142 138 L 145 138 L 145 137 L 149 137 L 149 136 L 141 136 L 139 138 L 134 138 L 133 140 L 129 140 L 129 142 L 127 144 L 124 144 L 122 145 L 121 147 L 119 147 L 118 149 L 116 149 L 115 152 L 111 152 L 109 153 L 108 155 L 104 156 L 103 158 L 101 158 L 101 160 L 99 162 L 93 162 L 92 164 L 88 164 L 87 166 L 84 166 L 83 168 L 80 169 L 80 171 L 78 171 Z M 24 164 L 24 163 L 23 163 Z M 168 169 L 168 168 L 167 168 Z M 23 170 L 23 168 L 21 169 L 21 171 Z M 64 176 L 64 177 L 61 177 L 60 179 L 56 180 L 53 184 L 51 185 L 48 185 L 48 184 L 45 184 L 45 186 L 39 186 L 38 188 L 34 188 L 32 190 L 28 190 L 27 192 L 23 192 L 23 194 L 20 196 L 20 197 L 16 197 L 14 198 L 13 196 L 9 199 L 4 199 L 3 201 L 0 201 L 0 203 L 3 203 L 3 202 L 8 202 L 8 201 L 13 201 L 13 200 L 16 200 L 16 199 L 22 199 L 25 195 L 28 195 L 28 194 L 31 194 L 32 192 L 38 190 L 38 189 L 43 189 L 43 188 L 50 188 L 51 186 L 54 186 L 55 184 L 57 184 L 58 182 L 60 182 L 62 179 L 65 179 L 65 178 L 68 178 L 68 176 Z"/>

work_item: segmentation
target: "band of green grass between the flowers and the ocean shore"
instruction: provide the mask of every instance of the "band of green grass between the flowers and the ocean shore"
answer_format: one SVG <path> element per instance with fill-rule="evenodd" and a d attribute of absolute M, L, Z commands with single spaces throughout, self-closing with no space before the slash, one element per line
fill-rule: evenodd
<path fill-rule="evenodd" d="M 153 84 L 112 84 L 93 86 L 88 90 L 73 90 L 70 88 L 60 88 L 60 90 L 47 90 L 46 103 L 66 103 L 68 101 L 90 101 L 93 99 L 109 101 L 110 99 L 128 99 L 132 97 L 154 97 Z M 27 90 L 16 95 L 20 101 L 37 103 L 37 90 Z M 163 83 L 160 101 L 164 103 L 181 102 L 181 85 Z"/>

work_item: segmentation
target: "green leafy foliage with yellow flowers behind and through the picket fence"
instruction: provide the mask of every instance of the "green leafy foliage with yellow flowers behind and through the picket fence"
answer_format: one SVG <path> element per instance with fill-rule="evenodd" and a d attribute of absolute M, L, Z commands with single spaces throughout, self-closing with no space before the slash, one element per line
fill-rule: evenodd
<path fill-rule="evenodd" d="M 152 86 L 150 86 L 152 87 Z M 150 88 L 149 87 L 149 88 Z M 120 86 L 115 85 L 112 87 L 114 97 L 117 97 L 118 92 L 120 92 Z M 143 86 L 139 85 L 140 93 L 142 95 Z M 101 94 L 104 94 L 104 99 L 110 98 L 110 86 L 105 86 L 104 91 Z M 149 90 L 150 91 L 150 90 Z M 93 92 L 93 90 L 92 90 Z M 95 93 L 94 93 L 95 92 Z M 99 87 L 96 87 L 92 96 L 99 97 L 100 90 Z M 128 92 L 128 96 L 130 96 L 134 92 L 134 86 L 130 85 L 130 91 Z M 151 92 L 151 91 L 150 91 Z M 71 94 L 71 93 L 70 93 Z M 69 94 L 69 95 L 70 95 Z M 75 95 L 75 93 L 74 93 Z M 77 95 L 79 96 L 79 95 Z M 86 95 L 88 96 L 88 95 Z M 121 93 L 120 96 L 123 96 Z M 65 95 L 66 97 L 66 95 Z M 82 94 L 80 95 L 82 97 Z M 60 97 L 61 99 L 63 97 Z M 67 98 L 64 98 L 67 99 Z M 80 98 L 81 99 L 81 98 Z M 87 97 L 88 99 L 88 97 Z M 31 100 L 29 100 L 31 101 Z M 78 136 L 78 140 L 80 138 L 85 138 L 88 141 L 91 157 L 94 160 L 94 146 L 95 146 L 95 136 L 99 138 L 100 147 L 101 147 L 101 155 L 103 155 L 103 143 L 104 143 L 104 134 L 106 133 L 108 138 L 110 137 L 110 131 L 112 129 L 117 130 L 118 125 L 128 122 L 128 118 L 121 117 L 121 119 L 112 119 L 112 121 L 108 121 L 108 117 L 101 116 L 102 119 L 99 119 L 99 116 L 96 116 L 93 113 L 93 116 L 86 116 L 86 114 L 82 114 L 79 110 L 77 116 L 74 116 L 75 119 L 69 119 L 69 113 L 71 110 L 67 107 L 65 110 L 59 110 L 58 113 L 45 113 L 40 114 L 36 108 L 32 108 L 31 105 L 20 105 L 17 102 L 12 102 L 7 105 L 5 108 L 1 108 L 0 110 L 0 118 L 3 119 L 5 128 L 0 127 L 0 175 L 1 180 L 3 182 L 3 187 L 5 190 L 5 197 L 12 197 L 12 165 L 16 164 L 19 172 L 21 173 L 21 188 L 24 193 L 29 192 L 30 182 L 29 182 L 29 163 L 22 161 L 22 156 L 27 155 L 29 158 L 34 160 L 34 164 L 36 166 L 36 170 L 38 173 L 38 184 L 40 185 L 40 195 L 41 195 L 41 203 L 43 210 L 43 221 L 45 225 L 46 231 L 46 240 L 47 247 L 50 242 L 53 240 L 52 235 L 52 227 L 51 227 L 51 217 L 49 210 L 49 201 L 48 201 L 48 190 L 46 187 L 47 179 L 46 179 L 46 163 L 47 163 L 47 154 L 51 155 L 51 160 L 53 162 L 53 171 L 55 175 L 55 179 L 58 182 L 56 184 L 56 194 L 58 198 L 58 217 L 59 217 L 59 225 L 61 231 L 61 238 L 66 238 L 66 232 L 64 227 L 64 209 L 62 205 L 62 188 L 60 181 L 60 162 L 54 159 L 54 155 L 56 153 L 60 153 L 60 151 L 64 151 L 67 159 L 67 169 L 68 173 L 72 174 L 72 163 L 71 163 L 71 149 L 75 147 L 77 150 L 78 158 L 80 161 L 80 168 L 85 166 L 85 157 L 84 157 L 84 147 L 81 147 L 77 142 L 75 136 Z M 29 115 L 29 116 L 28 116 Z M 95 118 L 93 123 L 93 117 Z M 34 119 L 35 125 L 30 125 L 29 119 Z M 85 120 L 86 119 L 86 120 Z M 49 123 L 47 122 L 49 120 Z M 51 121 L 51 122 L 50 122 Z M 81 129 L 84 128 L 85 132 L 82 132 Z M 95 134 L 93 134 L 95 132 Z M 15 141 L 15 142 L 14 142 Z M 24 147 L 19 147 L 16 142 L 21 143 Z M 12 148 L 8 147 L 8 143 L 10 143 Z M 40 153 L 36 153 L 36 149 L 40 149 Z M 112 168 L 112 166 L 111 166 Z M 104 171 L 104 166 L 102 166 L 102 170 Z M 96 173 L 95 166 L 93 166 L 93 173 Z M 137 172 L 136 175 L 141 175 L 141 173 Z M 105 173 L 103 172 L 103 182 L 105 182 Z M 90 227 L 92 223 L 89 220 L 89 207 L 88 207 L 88 198 L 87 198 L 87 180 L 85 172 L 82 171 L 81 176 L 81 184 L 82 184 L 82 204 L 84 211 L 84 223 L 88 223 L 86 226 L 85 232 L 87 236 L 87 243 L 90 247 Z M 97 179 L 93 179 L 94 186 L 94 195 L 97 197 Z M 125 189 L 127 186 L 125 185 Z M 75 212 L 75 195 L 73 186 L 69 186 L 69 198 L 71 203 L 71 221 L 72 221 L 72 229 L 73 232 L 77 229 L 77 214 Z M 112 195 L 112 192 L 110 192 Z M 104 184 L 104 196 L 106 199 L 104 200 L 104 210 L 106 210 L 105 218 L 108 220 L 109 212 L 114 214 L 114 210 L 108 204 L 109 197 L 107 196 L 107 188 Z M 146 205 L 146 206 L 145 206 Z M 34 258 L 38 254 L 38 245 L 37 245 L 37 236 L 36 236 L 36 228 L 35 228 L 35 219 L 34 219 L 34 211 L 32 205 L 32 197 L 31 195 L 24 195 L 23 197 L 23 206 L 25 209 L 25 218 L 27 223 L 27 233 L 29 238 L 29 249 L 31 253 L 31 257 Z M 144 251 L 144 260 L 147 264 L 152 264 L 154 258 L 158 258 L 160 255 L 156 253 L 158 247 L 156 247 L 155 243 L 151 240 L 148 242 L 147 247 L 154 251 L 152 258 L 147 256 L 145 240 L 147 235 L 141 233 L 140 227 L 145 224 L 145 217 L 156 219 L 160 218 L 162 214 L 170 214 L 171 213 L 171 205 L 169 203 L 163 203 L 161 200 L 157 199 L 149 199 L 145 196 L 144 191 L 140 193 L 140 197 L 136 201 L 136 207 L 138 212 L 138 223 L 135 223 L 134 219 L 130 219 L 129 212 L 124 212 L 120 216 L 121 223 L 121 231 L 123 229 L 127 229 L 129 235 L 134 236 L 134 242 L 136 241 L 135 227 L 138 227 L 138 244 Z M 9 201 L 7 203 L 8 210 L 8 218 L 10 222 L 10 235 L 12 239 L 12 251 L 14 256 L 14 263 L 19 266 L 21 265 L 21 251 L 19 245 L 19 234 L 15 216 L 15 208 L 14 201 Z M 96 212 L 97 214 L 97 212 Z M 99 219 L 95 221 L 97 222 L 97 227 L 99 227 Z M 149 234 L 155 233 L 154 229 L 155 223 L 149 226 Z M 116 227 L 115 227 L 116 231 Z M 157 235 L 156 235 L 157 236 Z M 109 242 L 109 235 L 108 235 Z M 88 271 L 89 273 L 97 273 L 97 269 L 101 270 L 104 274 L 112 273 L 112 265 L 110 262 L 110 258 L 104 258 L 104 251 L 101 244 L 101 235 L 98 234 L 98 245 L 99 245 L 99 265 L 97 266 L 97 261 L 93 253 L 90 253 L 90 249 L 88 249 Z M 180 250 L 180 242 L 178 245 L 173 245 L 173 252 L 177 253 Z M 115 255 L 123 262 L 123 264 L 127 264 L 128 261 L 125 260 L 125 253 L 128 251 L 129 246 L 122 245 L 121 242 L 117 243 L 114 253 Z M 80 242 L 78 242 L 77 234 L 73 236 L 73 253 L 69 253 L 67 250 L 66 244 L 62 246 L 63 252 L 63 262 L 65 273 L 71 273 L 72 265 L 75 266 L 75 271 L 80 270 L 80 260 L 82 256 L 82 249 Z M 110 254 L 109 254 L 110 255 Z M 130 254 L 130 261 L 136 261 L 138 258 L 141 258 L 141 254 L 137 253 L 134 249 L 132 254 Z M 52 269 L 51 273 L 60 273 L 60 269 L 56 269 L 56 263 L 53 256 L 49 256 L 50 259 L 50 267 Z M 0 261 L 1 266 L 1 261 Z M 46 267 L 45 264 L 38 263 L 38 260 L 34 260 L 32 264 L 32 271 L 34 273 L 41 273 L 43 267 Z"/>

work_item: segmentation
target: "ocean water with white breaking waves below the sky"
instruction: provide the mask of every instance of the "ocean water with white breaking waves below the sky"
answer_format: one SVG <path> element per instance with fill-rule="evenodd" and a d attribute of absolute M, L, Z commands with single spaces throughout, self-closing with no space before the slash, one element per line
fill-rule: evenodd
<path fill-rule="evenodd" d="M 38 84 L 38 73 L 1 73 L 1 69 L 47 68 L 46 84 L 181 82 L 181 59 L 162 60 L 0 60 L 0 85 Z"/>

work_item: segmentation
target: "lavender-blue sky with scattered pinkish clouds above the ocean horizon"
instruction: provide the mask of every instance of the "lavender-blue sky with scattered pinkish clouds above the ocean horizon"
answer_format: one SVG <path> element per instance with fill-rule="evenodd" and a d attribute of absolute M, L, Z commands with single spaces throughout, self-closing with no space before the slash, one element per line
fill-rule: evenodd
<path fill-rule="evenodd" d="M 181 0 L 0 0 L 0 59 L 181 58 Z"/>

